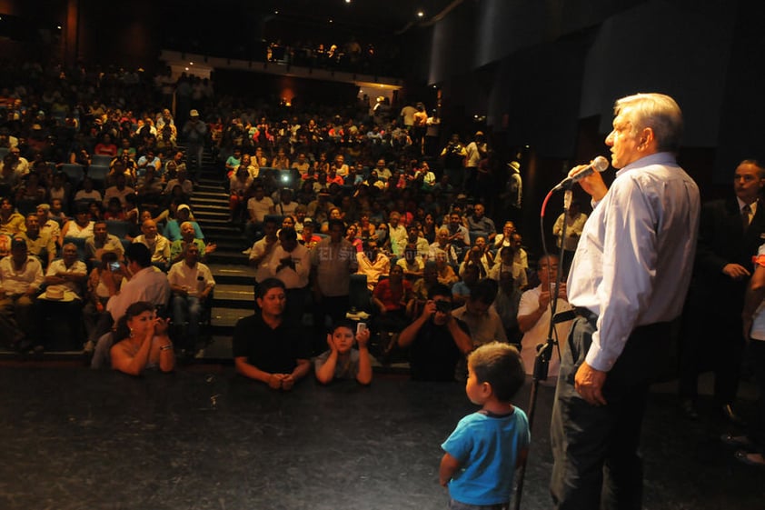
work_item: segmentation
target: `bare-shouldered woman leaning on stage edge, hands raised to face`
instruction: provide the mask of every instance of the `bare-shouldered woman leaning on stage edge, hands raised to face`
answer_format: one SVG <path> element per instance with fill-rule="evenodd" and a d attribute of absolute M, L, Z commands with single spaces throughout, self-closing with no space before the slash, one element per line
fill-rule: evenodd
<path fill-rule="evenodd" d="M 152 303 L 138 301 L 128 306 L 114 337 L 117 341 L 110 349 L 114 370 L 129 375 L 142 375 L 153 368 L 173 372 L 175 353 L 167 321 L 156 315 Z"/>

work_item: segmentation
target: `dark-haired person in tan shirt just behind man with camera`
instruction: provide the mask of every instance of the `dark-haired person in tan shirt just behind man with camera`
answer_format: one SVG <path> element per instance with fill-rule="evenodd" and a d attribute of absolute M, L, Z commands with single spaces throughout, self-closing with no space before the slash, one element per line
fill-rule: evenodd
<path fill-rule="evenodd" d="M 496 283 L 481 280 L 472 287 L 465 304 L 453 312 L 455 317 L 468 325 L 474 347 L 494 341 L 507 342 L 500 316 L 492 309 L 496 295 Z"/>

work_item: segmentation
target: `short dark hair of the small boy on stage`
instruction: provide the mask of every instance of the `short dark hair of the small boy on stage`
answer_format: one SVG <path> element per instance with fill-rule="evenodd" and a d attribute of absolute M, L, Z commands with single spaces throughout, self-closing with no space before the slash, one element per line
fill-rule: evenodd
<path fill-rule="evenodd" d="M 492 385 L 493 394 L 501 402 L 510 402 L 526 380 L 518 349 L 501 342 L 478 347 L 468 356 L 468 366 L 479 383 Z"/>

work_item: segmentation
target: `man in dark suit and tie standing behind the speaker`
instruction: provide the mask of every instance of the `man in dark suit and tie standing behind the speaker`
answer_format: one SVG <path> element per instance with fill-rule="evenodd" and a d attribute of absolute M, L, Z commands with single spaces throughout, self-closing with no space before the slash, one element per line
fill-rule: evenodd
<path fill-rule="evenodd" d="M 741 309 L 765 233 L 765 204 L 760 201 L 765 169 L 744 160 L 733 177 L 735 196 L 701 208 L 699 245 L 683 314 L 680 396 L 683 412 L 697 418 L 697 378 L 703 369 L 715 373 L 715 411 L 740 423 L 732 404 L 739 387 L 744 340 Z"/>

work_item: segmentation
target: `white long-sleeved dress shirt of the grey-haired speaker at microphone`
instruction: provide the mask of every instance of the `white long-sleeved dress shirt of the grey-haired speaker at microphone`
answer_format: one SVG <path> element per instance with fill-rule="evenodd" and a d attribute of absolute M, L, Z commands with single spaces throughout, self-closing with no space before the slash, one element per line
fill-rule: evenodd
<path fill-rule="evenodd" d="M 648 155 L 616 174 L 584 225 L 569 303 L 598 315 L 588 365 L 609 371 L 632 330 L 680 315 L 699 230 L 699 188 L 673 155 Z"/>

